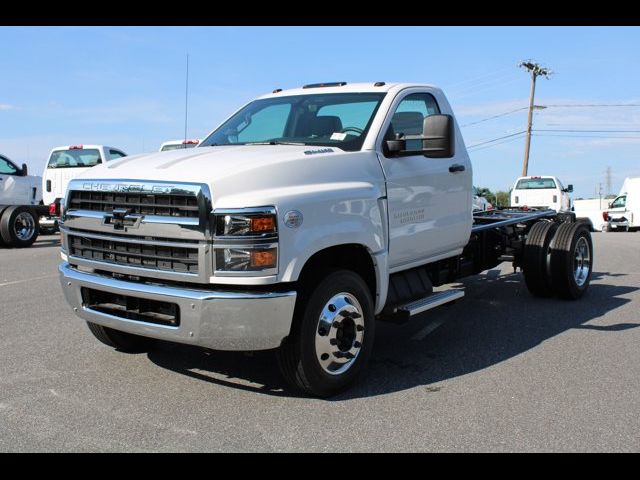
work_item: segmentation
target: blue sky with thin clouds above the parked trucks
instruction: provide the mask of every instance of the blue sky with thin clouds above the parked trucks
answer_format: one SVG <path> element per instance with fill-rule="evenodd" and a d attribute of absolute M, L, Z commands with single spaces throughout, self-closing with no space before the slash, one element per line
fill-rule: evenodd
<path fill-rule="evenodd" d="M 529 174 L 558 176 L 574 198 L 607 193 L 608 167 L 613 194 L 640 176 L 638 27 L 0 27 L 0 45 L 0 152 L 32 174 L 58 145 L 131 155 L 182 138 L 188 54 L 189 138 L 275 88 L 430 83 L 461 125 L 474 184 L 493 191 L 522 171 L 531 80 L 518 64 L 532 59 L 554 73 L 536 84 L 547 108 Z"/>

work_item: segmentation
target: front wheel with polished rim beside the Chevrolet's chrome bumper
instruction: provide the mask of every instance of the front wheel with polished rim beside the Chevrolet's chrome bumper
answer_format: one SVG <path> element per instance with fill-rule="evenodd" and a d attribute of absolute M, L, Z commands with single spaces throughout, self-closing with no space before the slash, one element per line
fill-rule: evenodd
<path fill-rule="evenodd" d="M 373 299 L 362 277 L 328 272 L 301 292 L 289 337 L 278 349 L 285 379 L 303 392 L 329 397 L 351 385 L 373 348 Z"/>

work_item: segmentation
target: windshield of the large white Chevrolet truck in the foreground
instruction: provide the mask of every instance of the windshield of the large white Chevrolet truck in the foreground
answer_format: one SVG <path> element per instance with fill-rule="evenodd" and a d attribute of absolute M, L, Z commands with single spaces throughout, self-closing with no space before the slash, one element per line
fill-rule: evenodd
<path fill-rule="evenodd" d="M 223 123 L 203 147 L 300 144 L 362 148 L 384 93 L 325 93 L 255 100 Z"/>

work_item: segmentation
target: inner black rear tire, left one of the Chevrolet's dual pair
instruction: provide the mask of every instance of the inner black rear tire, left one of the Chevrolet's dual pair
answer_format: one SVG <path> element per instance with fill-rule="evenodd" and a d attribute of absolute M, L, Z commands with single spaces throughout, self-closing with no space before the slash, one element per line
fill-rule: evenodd
<path fill-rule="evenodd" d="M 531 227 L 524 246 L 524 281 L 532 295 L 551 297 L 554 293 L 549 275 L 549 245 L 558 224 L 556 222 L 537 222 Z"/>

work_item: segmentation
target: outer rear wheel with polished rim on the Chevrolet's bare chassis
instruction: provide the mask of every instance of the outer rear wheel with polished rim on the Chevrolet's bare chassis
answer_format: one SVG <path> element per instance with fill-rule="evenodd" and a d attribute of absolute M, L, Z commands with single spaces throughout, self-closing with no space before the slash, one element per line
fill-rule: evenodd
<path fill-rule="evenodd" d="M 560 225 L 551 243 L 551 284 L 567 300 L 577 300 L 589 288 L 593 270 L 593 241 L 580 223 Z"/>

